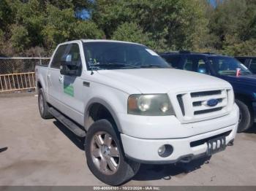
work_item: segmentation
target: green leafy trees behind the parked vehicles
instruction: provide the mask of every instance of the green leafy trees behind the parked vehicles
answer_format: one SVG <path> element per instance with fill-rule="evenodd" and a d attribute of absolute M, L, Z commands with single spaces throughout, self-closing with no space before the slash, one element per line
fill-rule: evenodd
<path fill-rule="evenodd" d="M 1 0 L 0 54 L 50 55 L 72 39 L 118 39 L 157 51 L 255 55 L 256 1 L 215 2 Z M 83 12 L 91 16 L 82 20 Z"/>

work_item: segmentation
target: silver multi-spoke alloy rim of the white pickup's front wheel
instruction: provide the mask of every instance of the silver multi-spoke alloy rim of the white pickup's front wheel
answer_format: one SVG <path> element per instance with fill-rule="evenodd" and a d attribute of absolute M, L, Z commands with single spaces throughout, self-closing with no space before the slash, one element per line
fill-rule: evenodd
<path fill-rule="evenodd" d="M 118 171 L 119 150 L 109 133 L 100 131 L 94 134 L 91 140 L 91 158 L 102 174 L 112 175 Z"/>

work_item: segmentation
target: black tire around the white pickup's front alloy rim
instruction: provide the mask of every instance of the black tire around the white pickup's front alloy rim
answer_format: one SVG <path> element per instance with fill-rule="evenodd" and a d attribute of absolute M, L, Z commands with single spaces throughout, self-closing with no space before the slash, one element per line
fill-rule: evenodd
<path fill-rule="evenodd" d="M 124 157 L 124 151 L 121 146 L 121 139 L 119 137 L 119 134 L 116 132 L 117 130 L 115 130 L 114 127 L 115 126 L 113 126 L 108 120 L 98 120 L 97 122 L 94 122 L 89 128 L 88 132 L 86 133 L 85 151 L 86 151 L 87 164 L 92 174 L 94 174 L 94 176 L 96 176 L 99 180 L 101 180 L 102 182 L 105 182 L 106 184 L 109 184 L 112 186 L 118 186 L 120 184 L 123 184 L 124 182 L 129 181 L 129 179 L 132 179 L 132 177 L 135 176 L 135 174 L 137 174 L 140 168 L 140 163 L 136 163 Z M 92 156 L 94 155 L 92 152 L 92 147 L 97 147 L 95 146 L 96 142 L 94 142 L 95 136 L 97 133 L 102 133 L 102 132 L 108 133 L 111 136 L 112 139 L 110 140 L 113 140 L 111 141 L 111 144 L 114 144 L 115 149 L 116 148 L 118 149 L 118 153 L 119 153 L 118 168 L 116 169 L 116 172 L 115 171 L 112 172 L 113 174 L 104 174 L 99 169 L 100 166 L 99 165 L 97 166 L 97 163 L 99 163 L 99 160 L 103 159 L 102 153 L 104 152 L 100 152 L 101 157 L 99 157 L 98 160 L 96 157 Z M 102 144 L 102 147 L 103 145 L 104 144 Z M 101 150 L 100 148 L 102 147 L 99 147 L 99 150 Z M 109 168 L 109 165 L 107 165 L 106 168 Z"/>

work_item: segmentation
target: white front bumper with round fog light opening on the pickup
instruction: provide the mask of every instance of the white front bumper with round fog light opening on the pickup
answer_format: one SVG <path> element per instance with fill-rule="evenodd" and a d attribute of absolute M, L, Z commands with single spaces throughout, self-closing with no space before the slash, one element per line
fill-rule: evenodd
<path fill-rule="evenodd" d="M 206 142 L 196 147 L 191 146 L 192 142 L 211 138 L 212 136 L 227 134 L 226 144 L 228 144 L 235 139 L 237 127 L 238 124 L 230 125 L 226 128 L 181 139 L 138 139 L 121 134 L 121 141 L 125 155 L 140 163 L 162 164 L 177 163 L 180 161 L 189 162 L 189 160 L 196 157 L 206 155 L 207 150 Z M 158 155 L 158 149 L 163 144 L 170 144 L 173 146 L 173 153 L 168 157 L 160 157 Z"/>

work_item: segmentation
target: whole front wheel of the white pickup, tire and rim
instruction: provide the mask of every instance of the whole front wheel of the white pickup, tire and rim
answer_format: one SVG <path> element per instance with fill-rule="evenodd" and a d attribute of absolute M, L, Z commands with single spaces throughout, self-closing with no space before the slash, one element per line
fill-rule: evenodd
<path fill-rule="evenodd" d="M 124 157 L 118 134 L 108 120 L 98 120 L 91 125 L 86 133 L 85 150 L 91 172 L 106 184 L 123 184 L 140 168 L 140 163 Z"/>

